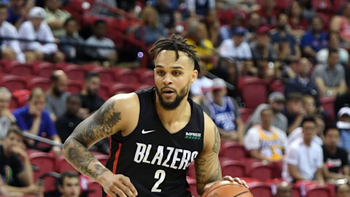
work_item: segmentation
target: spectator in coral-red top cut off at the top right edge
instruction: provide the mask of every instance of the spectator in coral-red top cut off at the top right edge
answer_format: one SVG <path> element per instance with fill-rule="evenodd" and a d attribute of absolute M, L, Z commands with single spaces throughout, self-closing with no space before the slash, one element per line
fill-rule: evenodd
<path fill-rule="evenodd" d="M 350 47 L 350 2 L 347 1 L 344 4 L 343 13 L 340 16 L 334 16 L 330 22 L 330 31 L 338 32 L 342 38 L 346 42 L 346 46 Z"/>

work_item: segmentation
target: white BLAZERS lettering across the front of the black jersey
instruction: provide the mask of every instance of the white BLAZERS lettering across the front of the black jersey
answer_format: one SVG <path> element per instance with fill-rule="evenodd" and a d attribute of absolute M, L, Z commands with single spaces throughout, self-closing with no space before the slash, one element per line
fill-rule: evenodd
<path fill-rule="evenodd" d="M 170 146 L 157 146 L 157 152 L 151 153 L 152 144 L 136 143 L 134 161 L 149 163 L 168 168 L 185 170 L 198 155 L 198 151 L 190 151 Z"/>

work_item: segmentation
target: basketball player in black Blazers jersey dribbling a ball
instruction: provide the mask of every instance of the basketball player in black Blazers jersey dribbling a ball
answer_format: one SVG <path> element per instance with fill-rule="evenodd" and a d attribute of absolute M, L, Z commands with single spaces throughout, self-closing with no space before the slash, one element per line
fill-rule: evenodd
<path fill-rule="evenodd" d="M 222 179 L 219 131 L 188 98 L 198 57 L 175 36 L 156 42 L 153 51 L 156 87 L 111 97 L 64 143 L 67 161 L 100 183 L 107 197 L 191 197 L 186 171 L 192 161 L 199 195 Z M 108 136 L 105 167 L 88 148 Z M 238 178 L 224 179 L 246 186 Z"/>

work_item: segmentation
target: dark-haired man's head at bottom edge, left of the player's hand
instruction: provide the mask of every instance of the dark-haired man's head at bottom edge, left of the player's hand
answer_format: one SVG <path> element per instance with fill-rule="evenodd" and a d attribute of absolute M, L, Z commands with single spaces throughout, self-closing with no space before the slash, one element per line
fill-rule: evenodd
<path fill-rule="evenodd" d="M 72 171 L 62 173 L 61 177 L 58 179 L 58 189 L 62 194 L 61 197 L 79 197 L 79 174 Z"/>

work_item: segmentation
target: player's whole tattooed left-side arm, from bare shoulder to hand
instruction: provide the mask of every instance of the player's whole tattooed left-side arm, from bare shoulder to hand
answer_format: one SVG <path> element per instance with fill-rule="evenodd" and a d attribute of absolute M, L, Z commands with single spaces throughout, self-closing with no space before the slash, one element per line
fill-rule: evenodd
<path fill-rule="evenodd" d="M 111 197 L 134 197 L 137 194 L 130 179 L 114 175 L 88 151 L 94 143 L 115 134 L 128 132 L 136 127 L 140 106 L 135 93 L 119 94 L 108 99 L 90 117 L 80 123 L 63 145 L 63 155 L 81 173 L 99 182 Z"/>

